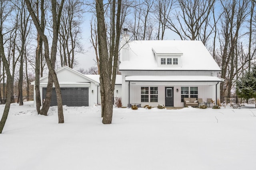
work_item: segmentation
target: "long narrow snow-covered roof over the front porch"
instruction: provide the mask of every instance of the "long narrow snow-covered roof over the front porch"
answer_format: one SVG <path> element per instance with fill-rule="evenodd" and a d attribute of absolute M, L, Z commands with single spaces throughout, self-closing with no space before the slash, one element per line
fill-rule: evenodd
<path fill-rule="evenodd" d="M 126 76 L 126 81 L 134 82 L 222 82 L 215 76 Z"/>

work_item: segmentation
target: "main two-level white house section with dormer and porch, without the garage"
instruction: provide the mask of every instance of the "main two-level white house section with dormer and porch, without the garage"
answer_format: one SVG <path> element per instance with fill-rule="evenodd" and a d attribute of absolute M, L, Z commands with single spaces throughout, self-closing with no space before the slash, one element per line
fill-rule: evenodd
<path fill-rule="evenodd" d="M 183 107 L 183 98 L 220 98 L 220 67 L 201 41 L 122 40 L 122 104 Z"/>

